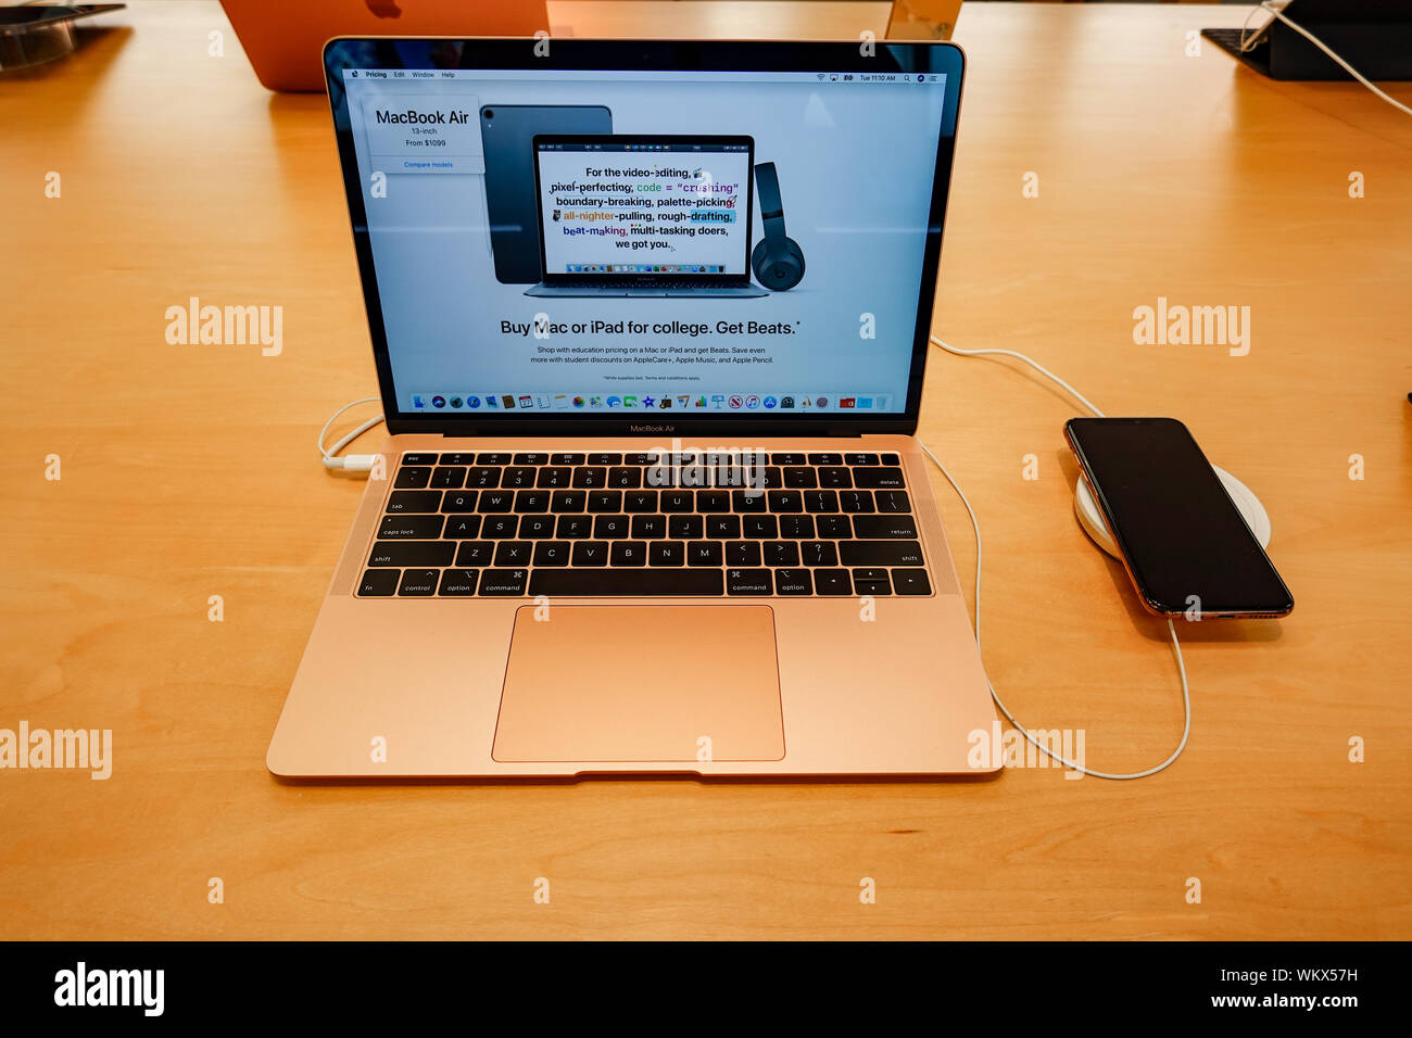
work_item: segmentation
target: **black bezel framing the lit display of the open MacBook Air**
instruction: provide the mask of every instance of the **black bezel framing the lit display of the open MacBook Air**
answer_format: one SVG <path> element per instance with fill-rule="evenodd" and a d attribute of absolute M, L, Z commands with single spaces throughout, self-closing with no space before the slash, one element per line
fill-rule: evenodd
<path fill-rule="evenodd" d="M 549 47 L 545 47 L 549 44 Z M 938 134 L 932 205 L 926 223 L 922 271 L 908 371 L 907 404 L 901 412 L 868 411 L 702 411 L 702 412 L 524 412 L 484 410 L 472 414 L 419 412 L 398 408 L 393 364 L 378 295 L 373 246 L 363 205 L 353 124 L 343 72 L 347 69 L 552 69 L 552 71 L 664 71 L 664 72 L 866 72 L 945 76 L 945 103 Z M 942 230 L 950 192 L 960 109 L 964 55 L 950 42 L 743 41 L 743 40 L 534 40 L 534 38 L 380 38 L 339 37 L 323 48 L 339 164 L 347 195 L 353 244 L 367 306 L 373 359 L 388 432 L 445 436 L 635 436 L 730 435 L 834 436 L 905 434 L 916 431 L 926 370 Z M 751 169 L 751 178 L 754 169 Z M 884 189 L 880 185 L 880 189 Z M 751 198 L 754 191 L 751 189 Z M 542 247 L 542 246 L 541 246 Z"/>

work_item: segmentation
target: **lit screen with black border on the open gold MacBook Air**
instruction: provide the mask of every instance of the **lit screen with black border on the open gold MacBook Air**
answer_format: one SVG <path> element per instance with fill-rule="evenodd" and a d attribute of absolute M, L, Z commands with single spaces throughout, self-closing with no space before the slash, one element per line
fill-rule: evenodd
<path fill-rule="evenodd" d="M 955 75 L 466 68 L 469 42 L 446 68 L 438 45 L 329 49 L 390 417 L 915 412 Z"/>

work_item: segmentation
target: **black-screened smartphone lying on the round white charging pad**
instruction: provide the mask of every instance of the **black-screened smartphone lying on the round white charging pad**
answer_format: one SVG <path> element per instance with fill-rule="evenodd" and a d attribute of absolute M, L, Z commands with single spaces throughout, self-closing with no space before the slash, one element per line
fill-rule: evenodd
<path fill-rule="evenodd" d="M 1244 619 L 1295 607 L 1182 422 L 1072 418 L 1065 436 L 1149 613 Z"/>

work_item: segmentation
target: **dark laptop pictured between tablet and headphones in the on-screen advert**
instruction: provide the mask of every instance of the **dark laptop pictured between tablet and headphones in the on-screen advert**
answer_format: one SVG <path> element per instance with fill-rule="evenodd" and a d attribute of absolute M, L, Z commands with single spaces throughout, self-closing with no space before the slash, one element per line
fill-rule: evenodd
<path fill-rule="evenodd" d="M 750 137 L 537 136 L 537 297 L 758 298 Z"/>

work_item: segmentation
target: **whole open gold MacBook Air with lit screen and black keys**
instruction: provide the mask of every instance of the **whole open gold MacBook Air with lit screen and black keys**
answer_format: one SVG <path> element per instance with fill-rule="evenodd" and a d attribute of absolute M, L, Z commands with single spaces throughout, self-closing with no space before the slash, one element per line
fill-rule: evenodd
<path fill-rule="evenodd" d="M 993 771 L 912 436 L 960 51 L 384 38 L 325 66 L 390 438 L 268 768 Z M 561 277 L 603 292 L 525 294 Z"/>

